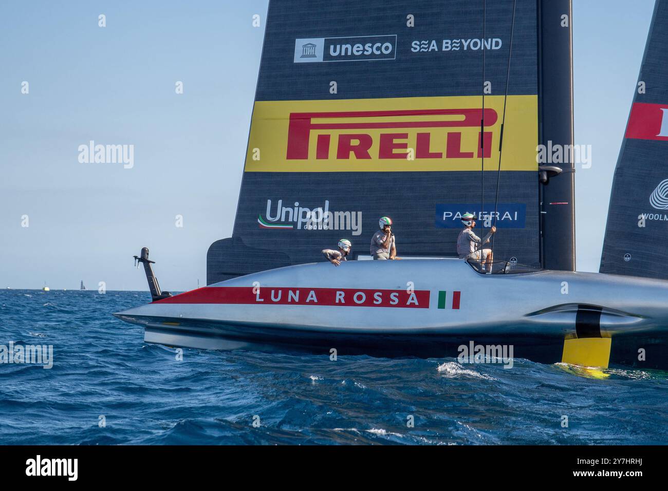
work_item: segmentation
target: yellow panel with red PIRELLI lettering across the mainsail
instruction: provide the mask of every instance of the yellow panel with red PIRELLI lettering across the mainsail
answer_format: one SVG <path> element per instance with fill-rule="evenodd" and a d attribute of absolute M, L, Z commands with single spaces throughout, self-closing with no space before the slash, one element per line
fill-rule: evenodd
<path fill-rule="evenodd" d="M 257 101 L 244 170 L 497 170 L 503 116 L 504 96 Z M 537 170 L 537 96 L 508 96 L 503 139 L 501 170 Z"/>

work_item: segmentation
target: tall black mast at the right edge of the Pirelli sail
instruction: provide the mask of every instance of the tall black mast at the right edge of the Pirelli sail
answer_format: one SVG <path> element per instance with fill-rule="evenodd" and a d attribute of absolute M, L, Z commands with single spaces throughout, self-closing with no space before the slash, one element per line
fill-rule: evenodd
<path fill-rule="evenodd" d="M 572 149 L 571 0 L 538 0 L 538 94 L 538 143 Z M 564 151 L 564 160 L 566 155 L 568 162 L 538 164 L 542 167 L 540 262 L 546 269 L 574 271 L 575 168 L 572 150 Z"/>

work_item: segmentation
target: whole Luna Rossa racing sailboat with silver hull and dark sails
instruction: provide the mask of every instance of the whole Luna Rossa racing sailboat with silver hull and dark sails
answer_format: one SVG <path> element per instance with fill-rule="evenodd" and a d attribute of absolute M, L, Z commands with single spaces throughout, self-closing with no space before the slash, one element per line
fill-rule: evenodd
<path fill-rule="evenodd" d="M 147 342 L 202 349 L 510 345 L 543 363 L 668 367 L 668 246 L 646 249 L 665 222 L 639 205 L 664 206 L 668 185 L 645 193 L 648 173 L 627 171 L 665 153 L 668 100 L 637 94 L 601 273 L 576 273 L 571 14 L 569 0 L 272 2 L 234 230 L 208 250 L 208 286 L 162 291 L 144 248 L 152 303 L 114 315 Z M 663 87 L 667 1 L 652 25 L 641 77 Z M 464 212 L 498 228 L 492 274 L 456 255 Z M 401 261 L 359 261 L 380 216 Z M 319 251 L 342 236 L 358 261 L 335 268 Z"/>

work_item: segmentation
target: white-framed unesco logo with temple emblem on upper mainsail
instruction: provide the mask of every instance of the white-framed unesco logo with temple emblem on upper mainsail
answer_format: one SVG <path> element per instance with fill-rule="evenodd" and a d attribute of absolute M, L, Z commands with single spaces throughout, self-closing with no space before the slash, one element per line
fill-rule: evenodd
<path fill-rule="evenodd" d="M 397 36 L 309 37 L 295 39 L 295 63 L 395 59 Z"/>

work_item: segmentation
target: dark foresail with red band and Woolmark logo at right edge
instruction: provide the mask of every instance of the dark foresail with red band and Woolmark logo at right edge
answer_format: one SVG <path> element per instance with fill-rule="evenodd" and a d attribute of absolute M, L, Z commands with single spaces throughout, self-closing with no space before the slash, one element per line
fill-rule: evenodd
<path fill-rule="evenodd" d="M 668 2 L 657 0 L 619 152 L 601 273 L 668 279 Z"/>

